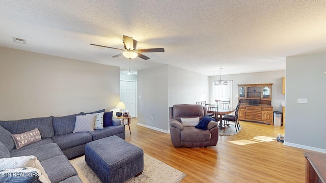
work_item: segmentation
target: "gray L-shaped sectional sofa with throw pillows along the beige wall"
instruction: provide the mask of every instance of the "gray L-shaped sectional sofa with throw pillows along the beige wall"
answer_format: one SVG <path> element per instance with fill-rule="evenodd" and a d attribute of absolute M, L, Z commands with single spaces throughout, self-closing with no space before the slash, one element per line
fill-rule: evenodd
<path fill-rule="evenodd" d="M 99 112 L 105 112 L 105 109 L 90 113 Z M 125 139 L 124 126 L 114 117 L 112 117 L 112 125 L 103 129 L 72 133 L 76 116 L 90 113 L 80 112 L 62 117 L 50 116 L 12 121 L 0 120 L 0 158 L 34 155 L 41 162 L 52 183 L 82 182 L 68 159 L 83 155 L 88 142 L 113 135 Z M 35 128 L 38 128 L 42 140 L 16 149 L 11 134 L 20 134 Z"/>

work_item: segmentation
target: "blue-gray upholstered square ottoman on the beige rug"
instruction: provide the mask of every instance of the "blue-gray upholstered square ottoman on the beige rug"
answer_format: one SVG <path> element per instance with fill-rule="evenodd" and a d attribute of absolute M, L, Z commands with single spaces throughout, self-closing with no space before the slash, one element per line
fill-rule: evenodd
<path fill-rule="evenodd" d="M 143 149 L 118 136 L 87 143 L 85 161 L 102 182 L 124 182 L 144 170 Z"/>

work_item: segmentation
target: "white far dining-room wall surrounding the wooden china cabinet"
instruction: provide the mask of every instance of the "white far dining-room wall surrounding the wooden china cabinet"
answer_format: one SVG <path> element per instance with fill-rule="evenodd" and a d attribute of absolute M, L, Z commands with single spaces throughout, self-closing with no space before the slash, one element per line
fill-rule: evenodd
<path fill-rule="evenodd" d="M 261 84 L 273 83 L 271 85 L 271 105 L 274 111 L 282 111 L 281 102 L 285 101 L 285 95 L 282 94 L 282 77 L 285 76 L 285 71 L 270 71 L 270 72 L 257 72 L 246 74 L 231 74 L 222 75 L 223 80 L 233 80 L 232 82 L 232 106 L 235 107 L 239 102 L 238 85 L 237 84 Z M 220 80 L 220 75 L 209 77 L 209 89 L 211 90 L 211 82 Z"/>

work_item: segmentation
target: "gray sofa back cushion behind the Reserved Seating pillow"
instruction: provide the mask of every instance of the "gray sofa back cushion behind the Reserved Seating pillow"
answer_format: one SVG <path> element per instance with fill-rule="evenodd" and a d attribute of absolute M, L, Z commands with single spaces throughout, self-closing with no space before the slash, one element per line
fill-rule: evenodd
<path fill-rule="evenodd" d="M 42 138 L 49 138 L 55 135 L 52 119 L 53 116 L 0 121 L 0 125 L 7 129 L 11 134 L 20 134 L 38 128 Z"/>

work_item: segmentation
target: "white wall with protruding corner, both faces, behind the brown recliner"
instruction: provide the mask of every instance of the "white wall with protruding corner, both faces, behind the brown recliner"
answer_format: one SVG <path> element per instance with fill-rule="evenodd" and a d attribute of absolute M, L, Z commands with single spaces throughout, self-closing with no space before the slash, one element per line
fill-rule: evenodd
<path fill-rule="evenodd" d="M 209 96 L 208 76 L 168 65 L 139 70 L 137 88 L 138 124 L 166 133 L 169 107 L 195 104 Z"/>

